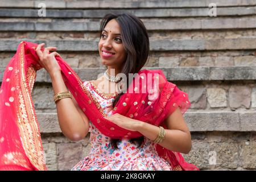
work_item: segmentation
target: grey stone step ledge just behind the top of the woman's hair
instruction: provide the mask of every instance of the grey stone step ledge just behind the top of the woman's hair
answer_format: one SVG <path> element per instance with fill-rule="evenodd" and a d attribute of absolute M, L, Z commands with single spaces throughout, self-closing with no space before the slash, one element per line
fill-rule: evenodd
<path fill-rule="evenodd" d="M 139 18 L 179 18 L 179 17 L 200 17 L 209 16 L 208 7 L 179 8 L 179 9 L 124 9 L 121 10 L 47 10 L 46 18 L 102 18 L 109 13 L 131 13 Z M 245 16 L 255 15 L 256 7 L 218 7 L 217 16 Z M 0 9 L 0 17 L 6 18 L 38 18 L 38 9 Z"/>

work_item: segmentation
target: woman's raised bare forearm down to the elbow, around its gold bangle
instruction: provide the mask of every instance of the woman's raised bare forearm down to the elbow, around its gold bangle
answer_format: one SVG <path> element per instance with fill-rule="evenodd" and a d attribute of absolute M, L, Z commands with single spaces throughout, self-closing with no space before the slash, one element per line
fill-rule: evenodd
<path fill-rule="evenodd" d="M 68 91 L 61 72 L 50 75 L 54 94 Z M 88 133 L 89 126 L 83 121 L 71 98 L 63 98 L 56 102 L 57 116 L 63 134 L 71 140 L 80 140 Z"/>

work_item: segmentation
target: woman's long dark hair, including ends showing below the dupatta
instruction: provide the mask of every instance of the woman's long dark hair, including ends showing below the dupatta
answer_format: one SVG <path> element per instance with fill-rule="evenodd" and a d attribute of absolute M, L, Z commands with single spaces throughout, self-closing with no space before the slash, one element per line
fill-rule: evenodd
<path fill-rule="evenodd" d="M 123 42 L 123 47 L 126 51 L 126 60 L 123 63 L 122 73 L 129 77 L 129 73 L 138 73 L 141 68 L 147 63 L 150 43 L 148 39 L 147 29 L 143 22 L 136 16 L 129 13 L 109 13 L 104 16 L 101 20 L 100 31 L 102 32 L 106 24 L 115 19 L 121 29 L 121 39 Z M 100 33 L 101 33 L 100 32 Z M 130 85 L 129 79 L 127 79 L 127 86 Z M 127 87 L 128 88 L 128 87 Z M 119 98 L 123 93 L 119 93 L 113 101 L 113 108 L 117 104 Z M 114 148 L 117 147 L 117 142 L 119 139 L 111 139 L 110 143 Z M 136 143 L 138 147 L 144 142 L 144 137 L 138 137 L 130 139 L 131 143 Z"/>

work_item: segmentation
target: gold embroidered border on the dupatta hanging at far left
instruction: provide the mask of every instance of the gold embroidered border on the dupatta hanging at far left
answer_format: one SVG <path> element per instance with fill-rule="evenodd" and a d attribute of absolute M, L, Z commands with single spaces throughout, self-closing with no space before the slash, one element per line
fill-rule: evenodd
<path fill-rule="evenodd" d="M 38 170 L 46 170 L 44 161 L 43 145 L 40 136 L 39 124 L 36 119 L 35 109 L 31 98 L 31 89 L 34 85 L 36 72 L 33 67 L 25 70 L 24 42 L 20 44 L 18 55 L 20 69 L 20 92 L 18 106 L 18 129 L 24 151 L 33 166 Z M 28 80 L 28 85 L 26 80 Z"/>

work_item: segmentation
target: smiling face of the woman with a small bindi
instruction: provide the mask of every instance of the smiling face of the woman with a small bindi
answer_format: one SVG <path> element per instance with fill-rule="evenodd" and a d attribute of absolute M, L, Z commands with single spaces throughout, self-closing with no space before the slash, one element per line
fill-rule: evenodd
<path fill-rule="evenodd" d="M 102 64 L 110 68 L 122 68 L 126 59 L 126 52 L 121 39 L 120 27 L 115 19 L 110 20 L 101 32 L 98 50 Z"/>

